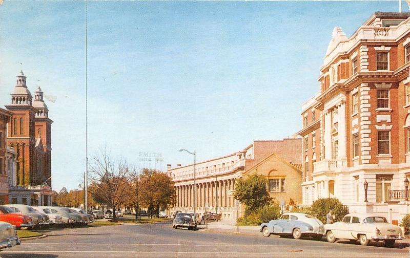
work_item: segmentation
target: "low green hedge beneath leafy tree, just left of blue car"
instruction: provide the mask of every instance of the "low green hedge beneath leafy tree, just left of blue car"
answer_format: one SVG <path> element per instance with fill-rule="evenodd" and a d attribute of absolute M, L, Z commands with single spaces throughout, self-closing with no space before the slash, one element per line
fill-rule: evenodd
<path fill-rule="evenodd" d="M 243 226 L 260 225 L 264 222 L 276 220 L 280 216 L 280 207 L 278 204 L 268 204 L 257 208 L 256 210 L 245 214 L 239 218 L 239 223 Z"/>

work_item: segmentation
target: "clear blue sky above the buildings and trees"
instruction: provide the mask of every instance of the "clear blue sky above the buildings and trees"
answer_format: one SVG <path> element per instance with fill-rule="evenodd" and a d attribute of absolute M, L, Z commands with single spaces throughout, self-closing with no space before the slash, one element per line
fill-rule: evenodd
<path fill-rule="evenodd" d="M 404 2 L 404 1 L 403 1 Z M 165 170 L 300 130 L 335 26 L 350 36 L 397 2 L 89 2 L 90 158 Z M 407 10 L 405 2 L 403 10 Z M 0 105 L 20 69 L 45 94 L 53 188 L 85 170 L 85 2 L 0 6 Z M 22 63 L 22 64 L 20 64 Z M 160 153 L 144 163 L 140 153 Z"/>

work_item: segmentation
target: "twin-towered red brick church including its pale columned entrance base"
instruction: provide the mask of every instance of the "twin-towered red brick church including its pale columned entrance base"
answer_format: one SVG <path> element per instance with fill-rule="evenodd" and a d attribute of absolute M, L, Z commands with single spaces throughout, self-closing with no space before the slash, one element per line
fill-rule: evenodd
<path fill-rule="evenodd" d="M 51 204 L 51 124 L 43 92 L 38 87 L 34 100 L 23 71 L 17 75 L 6 105 L 12 114 L 7 144 L 16 154 L 15 175 L 10 178 L 9 202 L 28 205 Z M 15 184 L 14 184 L 15 183 Z"/>

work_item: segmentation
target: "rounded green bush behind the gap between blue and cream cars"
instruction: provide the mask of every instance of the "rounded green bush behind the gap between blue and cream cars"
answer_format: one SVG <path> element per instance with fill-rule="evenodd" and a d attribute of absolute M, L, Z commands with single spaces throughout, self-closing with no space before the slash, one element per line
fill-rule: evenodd
<path fill-rule="evenodd" d="M 323 223 L 326 222 L 326 214 L 332 209 L 335 222 L 341 221 L 349 213 L 347 206 L 343 205 L 337 198 L 321 198 L 313 202 L 312 215 L 316 216 Z"/>

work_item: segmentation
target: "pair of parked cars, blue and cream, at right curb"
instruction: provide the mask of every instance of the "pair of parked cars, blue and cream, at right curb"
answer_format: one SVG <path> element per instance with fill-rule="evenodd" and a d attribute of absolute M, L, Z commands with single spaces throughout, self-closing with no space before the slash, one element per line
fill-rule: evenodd
<path fill-rule="evenodd" d="M 311 236 L 316 240 L 326 237 L 327 242 L 347 239 L 352 243 L 359 241 L 367 245 L 370 241 L 384 241 L 387 247 L 393 247 L 396 240 L 405 239 L 399 226 L 390 224 L 386 218 L 374 213 L 350 213 L 341 222 L 325 224 L 305 213 L 284 213 L 277 220 L 260 225 L 263 236 L 290 235 L 294 239 Z"/>

